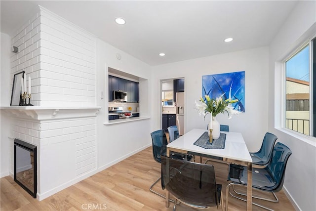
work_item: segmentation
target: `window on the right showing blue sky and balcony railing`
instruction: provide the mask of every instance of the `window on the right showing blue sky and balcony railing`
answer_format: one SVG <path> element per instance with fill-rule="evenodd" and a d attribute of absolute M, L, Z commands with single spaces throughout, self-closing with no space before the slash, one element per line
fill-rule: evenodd
<path fill-rule="evenodd" d="M 313 79 L 315 79 L 316 75 L 315 45 L 316 41 L 314 39 L 285 61 L 286 96 L 284 127 L 308 136 L 316 135 L 315 128 L 313 127 L 316 116 L 316 85 L 313 84 Z M 313 61 L 314 67 L 312 65 Z M 313 71 L 311 68 L 313 68 Z M 311 128 L 314 128 L 314 130 L 311 130 Z"/>

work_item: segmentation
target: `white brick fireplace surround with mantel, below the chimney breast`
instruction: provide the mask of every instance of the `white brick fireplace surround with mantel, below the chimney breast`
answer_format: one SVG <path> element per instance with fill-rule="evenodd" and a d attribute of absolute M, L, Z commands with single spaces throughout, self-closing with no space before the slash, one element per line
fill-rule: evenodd
<path fill-rule="evenodd" d="M 2 109 L 11 119 L 11 173 L 14 138 L 38 147 L 39 200 L 96 173 L 97 107 Z"/>

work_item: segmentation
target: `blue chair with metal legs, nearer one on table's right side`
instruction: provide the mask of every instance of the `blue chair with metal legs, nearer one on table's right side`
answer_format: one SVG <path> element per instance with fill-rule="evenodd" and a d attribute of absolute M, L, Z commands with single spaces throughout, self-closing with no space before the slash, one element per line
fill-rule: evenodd
<path fill-rule="evenodd" d="M 288 161 L 288 158 L 292 154 L 292 151 L 282 143 L 276 143 L 273 148 L 272 157 L 268 165 L 263 169 L 252 168 L 252 188 L 271 192 L 275 197 L 275 200 L 266 199 L 262 197 L 252 196 L 252 198 L 261 199 L 269 202 L 278 202 L 275 192 L 278 192 L 283 187 L 285 168 Z M 229 175 L 228 175 L 229 184 L 226 187 L 226 211 L 228 210 L 228 193 L 231 196 L 240 199 L 242 201 L 247 201 L 237 195 L 246 196 L 246 194 L 238 193 L 234 186 L 247 186 L 247 167 L 242 167 L 239 165 L 230 165 Z M 234 195 L 230 191 L 230 187 L 233 187 Z M 267 207 L 259 205 L 257 203 L 252 203 L 258 207 L 264 208 L 266 210 L 273 211 Z"/>

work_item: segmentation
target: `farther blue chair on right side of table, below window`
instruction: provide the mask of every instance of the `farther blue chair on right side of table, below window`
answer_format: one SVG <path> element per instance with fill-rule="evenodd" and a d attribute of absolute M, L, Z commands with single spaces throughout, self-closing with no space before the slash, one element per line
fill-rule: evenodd
<path fill-rule="evenodd" d="M 252 165 L 267 166 L 271 160 L 273 147 L 276 143 L 276 135 L 266 132 L 261 148 L 258 152 L 250 152 Z M 254 166 L 255 167 L 255 166 Z"/>

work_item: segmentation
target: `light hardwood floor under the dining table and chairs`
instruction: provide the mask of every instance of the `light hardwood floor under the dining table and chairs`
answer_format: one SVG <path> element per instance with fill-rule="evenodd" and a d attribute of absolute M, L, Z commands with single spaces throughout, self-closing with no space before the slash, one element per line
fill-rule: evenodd
<path fill-rule="evenodd" d="M 197 157 L 198 158 L 198 157 Z M 199 160 L 199 158 L 198 158 Z M 217 183 L 224 185 L 227 165 L 214 164 Z M 32 198 L 10 176 L 1 178 L 1 211 L 172 211 L 173 204 L 165 207 L 164 199 L 151 193 L 149 187 L 160 176 L 160 164 L 155 162 L 149 147 L 118 164 L 105 169 L 42 201 Z M 155 189 L 161 193 L 160 184 Z M 267 195 L 267 194 L 264 194 Z M 294 211 L 283 191 L 276 193 L 278 203 L 261 203 L 276 211 Z M 270 196 L 270 194 L 268 194 Z M 256 200 L 254 200 L 256 201 Z M 210 210 L 216 211 L 217 208 Z M 246 203 L 229 197 L 229 211 L 245 211 Z M 254 211 L 261 211 L 253 206 Z M 177 211 L 195 211 L 180 204 Z"/>

